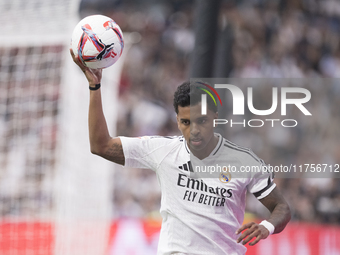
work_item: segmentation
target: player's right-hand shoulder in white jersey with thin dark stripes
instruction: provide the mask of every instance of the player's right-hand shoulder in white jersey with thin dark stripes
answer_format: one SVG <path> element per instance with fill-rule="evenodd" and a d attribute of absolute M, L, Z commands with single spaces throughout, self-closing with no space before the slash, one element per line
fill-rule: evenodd
<path fill-rule="evenodd" d="M 264 161 L 259 158 L 250 148 L 240 146 L 226 138 L 223 138 L 223 149 L 228 155 L 238 158 L 244 163 L 264 164 Z"/>

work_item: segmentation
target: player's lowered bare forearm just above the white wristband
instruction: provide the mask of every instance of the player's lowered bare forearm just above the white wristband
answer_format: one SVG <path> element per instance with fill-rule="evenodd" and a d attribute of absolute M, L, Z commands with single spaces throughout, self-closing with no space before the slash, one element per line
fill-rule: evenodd
<path fill-rule="evenodd" d="M 287 203 L 278 203 L 272 211 L 268 221 L 275 227 L 274 234 L 280 233 L 288 224 L 291 212 Z"/>

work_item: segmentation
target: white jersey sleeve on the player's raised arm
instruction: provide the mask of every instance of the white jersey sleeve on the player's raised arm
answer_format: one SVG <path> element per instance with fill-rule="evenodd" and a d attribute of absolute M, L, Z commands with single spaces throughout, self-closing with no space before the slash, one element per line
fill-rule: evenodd
<path fill-rule="evenodd" d="M 164 137 L 119 137 L 125 157 L 126 167 L 149 168 L 156 171 L 160 160 L 166 153 L 169 144 Z"/>

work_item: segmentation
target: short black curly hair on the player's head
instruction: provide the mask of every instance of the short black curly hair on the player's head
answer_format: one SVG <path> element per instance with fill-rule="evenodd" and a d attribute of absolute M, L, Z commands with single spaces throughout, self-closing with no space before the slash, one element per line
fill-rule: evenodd
<path fill-rule="evenodd" d="M 214 93 L 201 81 L 186 81 L 177 87 L 174 94 L 174 108 L 178 114 L 178 106 L 186 107 L 196 105 L 201 102 L 201 95 L 206 94 L 203 89 L 208 90 L 214 97 Z M 208 109 L 217 112 L 217 106 L 210 96 L 207 97 Z"/>

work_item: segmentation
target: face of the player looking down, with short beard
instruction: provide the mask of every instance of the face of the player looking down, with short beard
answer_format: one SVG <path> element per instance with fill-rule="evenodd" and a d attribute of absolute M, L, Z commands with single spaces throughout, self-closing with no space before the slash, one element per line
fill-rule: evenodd
<path fill-rule="evenodd" d="M 178 106 L 177 124 L 191 152 L 202 159 L 211 153 L 217 144 L 214 136 L 213 120 L 217 113 L 210 109 L 206 115 L 201 114 L 201 103 L 194 106 Z"/>

